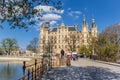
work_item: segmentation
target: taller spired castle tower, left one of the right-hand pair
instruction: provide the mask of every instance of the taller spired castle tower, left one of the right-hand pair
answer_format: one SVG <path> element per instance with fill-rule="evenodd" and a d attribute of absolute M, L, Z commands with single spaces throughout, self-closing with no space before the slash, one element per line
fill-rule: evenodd
<path fill-rule="evenodd" d="M 81 36 L 82 36 L 82 44 L 87 46 L 88 45 L 87 39 L 89 37 L 89 32 L 88 32 L 88 24 L 86 22 L 85 16 L 83 16 Z"/>

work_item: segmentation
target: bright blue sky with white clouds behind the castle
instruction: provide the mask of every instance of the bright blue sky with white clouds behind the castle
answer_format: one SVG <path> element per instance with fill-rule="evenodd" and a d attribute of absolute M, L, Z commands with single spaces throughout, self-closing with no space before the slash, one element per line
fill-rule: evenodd
<path fill-rule="evenodd" d="M 92 22 L 92 16 L 95 18 L 95 23 L 98 28 L 98 33 L 109 25 L 120 23 L 120 0 L 61 0 L 61 10 L 50 11 L 53 6 L 36 6 L 36 9 L 43 9 L 46 13 L 40 21 L 37 21 L 36 25 L 28 26 L 29 31 L 24 29 L 9 29 L 9 25 L 4 24 L 5 28 L 0 29 L 0 42 L 4 38 L 15 38 L 18 41 L 18 45 L 22 49 L 26 49 L 26 46 L 34 37 L 39 37 L 39 27 L 44 21 L 50 21 L 52 26 L 60 25 L 64 22 L 65 25 L 73 26 L 78 25 L 78 29 L 81 30 L 83 15 L 86 17 L 86 21 L 89 25 Z M 36 17 L 35 17 L 36 19 Z"/>

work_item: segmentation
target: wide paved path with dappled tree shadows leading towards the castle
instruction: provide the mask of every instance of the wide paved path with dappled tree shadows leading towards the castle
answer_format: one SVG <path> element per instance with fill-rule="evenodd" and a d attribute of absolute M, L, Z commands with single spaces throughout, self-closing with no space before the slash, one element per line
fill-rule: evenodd
<path fill-rule="evenodd" d="M 70 67 L 53 68 L 42 80 L 120 80 L 120 67 L 89 59 L 71 63 Z"/>

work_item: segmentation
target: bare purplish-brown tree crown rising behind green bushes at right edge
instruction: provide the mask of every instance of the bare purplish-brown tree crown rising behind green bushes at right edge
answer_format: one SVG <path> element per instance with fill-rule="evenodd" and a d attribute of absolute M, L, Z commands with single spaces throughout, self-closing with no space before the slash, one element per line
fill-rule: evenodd
<path fill-rule="evenodd" d="M 120 54 L 120 24 L 110 25 L 102 32 L 102 34 L 106 35 L 109 43 L 118 45 L 118 53 Z"/>

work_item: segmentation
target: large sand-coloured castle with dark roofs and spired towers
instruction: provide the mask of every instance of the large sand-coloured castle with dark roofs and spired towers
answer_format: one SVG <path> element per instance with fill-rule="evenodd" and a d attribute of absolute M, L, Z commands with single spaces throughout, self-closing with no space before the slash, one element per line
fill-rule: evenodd
<path fill-rule="evenodd" d="M 92 18 L 90 31 L 85 17 L 82 21 L 82 29 L 78 30 L 78 25 L 66 26 L 63 22 L 60 26 L 51 28 L 47 23 L 40 26 L 40 53 L 60 53 L 63 49 L 67 52 L 78 51 L 82 46 L 88 46 L 88 38 L 97 37 L 97 26 Z"/>

